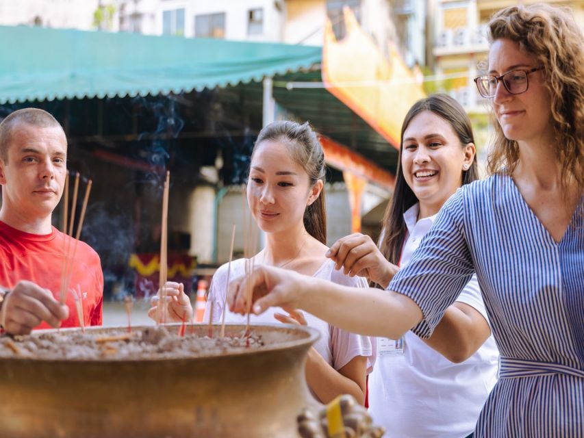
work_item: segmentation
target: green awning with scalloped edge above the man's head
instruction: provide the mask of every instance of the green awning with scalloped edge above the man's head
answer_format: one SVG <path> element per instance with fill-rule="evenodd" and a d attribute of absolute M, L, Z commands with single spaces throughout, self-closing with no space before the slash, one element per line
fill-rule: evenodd
<path fill-rule="evenodd" d="M 321 48 L 0 26 L 0 103 L 200 91 L 320 62 Z"/>

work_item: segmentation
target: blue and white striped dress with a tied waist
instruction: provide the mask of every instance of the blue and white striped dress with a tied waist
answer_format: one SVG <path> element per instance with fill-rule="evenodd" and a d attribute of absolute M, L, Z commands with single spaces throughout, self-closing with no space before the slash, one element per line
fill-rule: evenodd
<path fill-rule="evenodd" d="M 465 185 L 388 289 L 429 337 L 473 272 L 500 351 L 475 437 L 584 438 L 584 196 L 558 244 L 511 177 Z"/>

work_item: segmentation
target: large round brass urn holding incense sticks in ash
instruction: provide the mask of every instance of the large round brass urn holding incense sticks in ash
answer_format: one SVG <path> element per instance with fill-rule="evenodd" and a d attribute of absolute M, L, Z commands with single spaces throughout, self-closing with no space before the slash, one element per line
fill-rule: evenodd
<path fill-rule="evenodd" d="M 165 328 L 200 337 L 209 330 Z M 219 326 L 213 330 L 220 333 Z M 244 330 L 227 325 L 225 335 L 241 337 Z M 86 332 L 107 337 L 114 331 L 121 329 Z M 140 359 L 116 358 L 113 346 L 99 359 L 40 359 L 22 354 L 18 338 L 9 339 L 14 355 L 0 357 L 0 437 L 298 438 L 299 413 L 322 406 L 304 377 L 318 332 L 275 324 L 251 326 L 251 333 L 262 339 L 261 348 Z"/>

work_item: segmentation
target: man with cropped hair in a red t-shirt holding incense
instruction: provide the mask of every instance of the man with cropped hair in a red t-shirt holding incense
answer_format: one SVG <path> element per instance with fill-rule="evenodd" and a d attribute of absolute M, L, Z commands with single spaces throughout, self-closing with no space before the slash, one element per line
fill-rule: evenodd
<path fill-rule="evenodd" d="M 67 140 L 51 114 L 18 110 L 0 123 L 0 324 L 12 334 L 79 326 L 75 296 L 85 325 L 101 325 L 103 272 L 99 256 L 77 243 L 65 305 L 60 305 L 64 240 L 51 225 L 65 184 Z M 8 288 L 8 289 L 6 289 Z M 8 293 L 7 293 L 8 292 Z"/>

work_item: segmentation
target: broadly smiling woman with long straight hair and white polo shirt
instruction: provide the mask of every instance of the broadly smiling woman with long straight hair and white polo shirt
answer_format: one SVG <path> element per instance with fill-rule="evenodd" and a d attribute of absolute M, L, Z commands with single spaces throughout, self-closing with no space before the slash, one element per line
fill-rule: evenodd
<path fill-rule="evenodd" d="M 477 179 L 474 153 L 470 120 L 459 103 L 446 94 L 418 101 L 402 126 L 381 250 L 370 237 L 353 234 L 333 244 L 329 257 L 345 273 L 368 276 L 387 287 L 397 268 L 407 265 L 444 202 Z M 446 310 L 432 337 L 422 340 L 409 331 L 401 339 L 379 337 L 377 342 L 369 409 L 375 424 L 386 428 L 385 436 L 472 436 L 496 382 L 498 361 L 476 276 Z"/>

